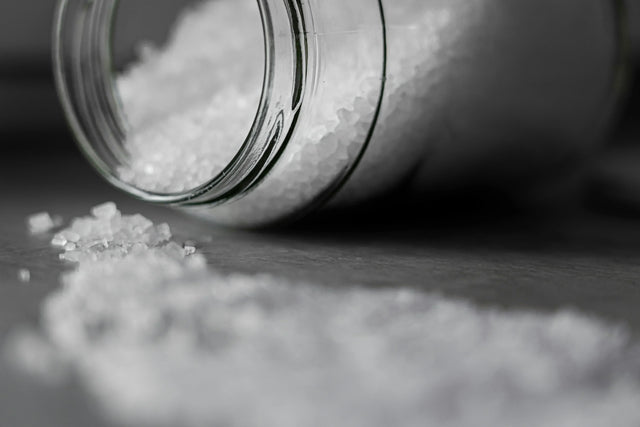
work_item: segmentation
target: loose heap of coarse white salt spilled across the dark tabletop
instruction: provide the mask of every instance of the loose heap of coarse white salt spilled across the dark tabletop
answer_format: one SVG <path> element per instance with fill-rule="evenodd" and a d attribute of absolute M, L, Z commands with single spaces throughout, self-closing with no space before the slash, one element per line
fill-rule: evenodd
<path fill-rule="evenodd" d="M 75 373 L 124 425 L 640 425 L 640 353 L 620 327 L 223 275 L 168 225 L 112 204 L 70 238 L 75 268 L 42 330 L 8 354 L 44 379 Z"/>

